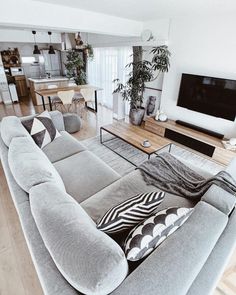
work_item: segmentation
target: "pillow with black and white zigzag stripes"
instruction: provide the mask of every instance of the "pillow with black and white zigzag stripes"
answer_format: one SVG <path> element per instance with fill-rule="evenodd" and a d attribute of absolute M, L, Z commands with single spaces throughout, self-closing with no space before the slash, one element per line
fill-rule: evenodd
<path fill-rule="evenodd" d="M 164 192 L 138 194 L 109 209 L 97 224 L 106 233 L 115 233 L 132 228 L 147 218 L 162 202 Z"/>

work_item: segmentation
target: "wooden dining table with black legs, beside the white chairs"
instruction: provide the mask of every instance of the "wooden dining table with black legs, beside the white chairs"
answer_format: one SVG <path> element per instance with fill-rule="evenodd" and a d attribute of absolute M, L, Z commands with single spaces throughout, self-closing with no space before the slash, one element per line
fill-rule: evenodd
<path fill-rule="evenodd" d="M 52 101 L 51 101 L 51 97 L 54 95 L 57 95 L 57 93 L 59 91 L 67 91 L 67 90 L 74 90 L 75 92 L 80 92 L 81 89 L 85 89 L 85 88 L 90 88 L 94 90 L 94 99 L 95 99 L 95 108 L 91 108 L 87 105 L 86 101 L 86 107 L 89 110 L 92 110 L 94 112 L 97 112 L 98 109 L 98 103 L 97 103 L 97 91 L 102 90 L 102 88 L 96 87 L 96 86 L 92 86 L 92 85 L 76 85 L 76 86 L 65 86 L 65 87 L 57 87 L 57 88 L 52 88 L 52 89 L 40 89 L 40 90 L 35 90 L 35 93 L 38 94 L 39 96 L 41 96 L 42 99 L 42 104 L 43 104 L 43 109 L 46 110 L 46 105 L 45 105 L 45 100 L 44 97 L 48 98 L 48 102 L 49 102 L 49 108 L 50 111 L 52 111 Z"/>

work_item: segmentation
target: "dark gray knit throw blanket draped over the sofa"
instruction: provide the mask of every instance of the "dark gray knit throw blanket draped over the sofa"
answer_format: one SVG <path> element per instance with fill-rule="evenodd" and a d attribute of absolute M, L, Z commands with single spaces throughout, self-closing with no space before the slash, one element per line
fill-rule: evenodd
<path fill-rule="evenodd" d="M 220 171 L 205 179 L 169 153 L 161 153 L 137 169 L 147 184 L 187 199 L 200 199 L 212 184 L 236 195 L 236 182 L 229 173 Z"/>

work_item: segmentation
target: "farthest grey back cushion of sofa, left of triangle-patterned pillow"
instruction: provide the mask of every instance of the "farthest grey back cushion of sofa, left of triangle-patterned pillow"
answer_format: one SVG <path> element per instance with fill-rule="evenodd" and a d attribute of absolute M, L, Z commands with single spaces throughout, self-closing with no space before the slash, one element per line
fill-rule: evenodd
<path fill-rule="evenodd" d="M 22 126 L 21 121 L 16 116 L 4 117 L 1 121 L 1 136 L 6 146 L 9 147 L 15 137 L 30 137 L 27 130 Z"/>

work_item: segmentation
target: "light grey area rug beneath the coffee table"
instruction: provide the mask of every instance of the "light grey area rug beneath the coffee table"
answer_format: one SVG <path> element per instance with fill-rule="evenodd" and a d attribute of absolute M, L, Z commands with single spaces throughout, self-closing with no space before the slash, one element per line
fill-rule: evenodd
<path fill-rule="evenodd" d="M 145 153 L 139 151 L 121 139 L 114 138 L 111 135 L 105 135 L 103 137 L 104 140 L 111 138 L 113 139 L 106 142 L 105 144 L 116 153 L 122 155 L 132 163 L 135 163 L 135 165 L 138 166 L 148 159 L 148 156 Z M 134 165 L 130 164 L 115 152 L 101 144 L 99 136 L 83 140 L 82 143 L 88 150 L 97 155 L 121 176 L 133 171 L 136 168 Z M 163 148 L 159 151 L 159 153 L 163 151 L 168 151 L 168 148 Z M 213 174 L 224 170 L 224 166 L 221 166 L 211 160 L 208 160 L 207 158 L 204 158 L 201 155 L 190 152 L 189 150 L 179 146 L 172 145 L 171 154 L 180 160 L 183 159 L 184 161 L 187 161 L 192 165 L 197 165 L 199 168 L 202 168 Z M 155 157 L 155 155 L 152 156 Z"/>

